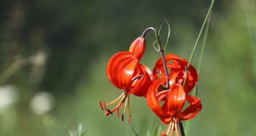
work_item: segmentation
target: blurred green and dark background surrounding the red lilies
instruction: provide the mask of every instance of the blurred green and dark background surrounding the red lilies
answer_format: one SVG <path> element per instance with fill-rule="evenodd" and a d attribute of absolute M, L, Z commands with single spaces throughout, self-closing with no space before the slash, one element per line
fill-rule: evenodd
<path fill-rule="evenodd" d="M 108 59 L 127 51 L 149 26 L 163 23 L 165 53 L 189 59 L 210 0 L 1 0 L 0 136 L 153 136 L 167 126 L 131 96 L 131 122 L 104 116 L 99 101 L 122 90 L 106 76 Z M 203 108 L 186 136 L 256 136 L 256 3 L 217 0 L 206 42 L 198 95 Z M 160 57 L 146 36 L 141 63 Z M 197 66 L 201 41 L 192 65 Z M 127 116 L 125 118 L 127 120 Z M 184 121 L 186 128 L 186 121 Z"/>

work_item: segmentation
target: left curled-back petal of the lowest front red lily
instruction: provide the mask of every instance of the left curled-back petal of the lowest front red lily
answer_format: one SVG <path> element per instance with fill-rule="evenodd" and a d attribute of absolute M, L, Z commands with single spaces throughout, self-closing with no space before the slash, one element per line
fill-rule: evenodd
<path fill-rule="evenodd" d="M 159 85 L 163 84 L 166 80 L 167 78 L 155 80 L 155 82 L 150 85 L 146 94 L 146 102 L 149 108 L 153 110 L 158 117 L 165 119 L 169 118 L 169 115 L 162 110 L 155 95 Z"/>

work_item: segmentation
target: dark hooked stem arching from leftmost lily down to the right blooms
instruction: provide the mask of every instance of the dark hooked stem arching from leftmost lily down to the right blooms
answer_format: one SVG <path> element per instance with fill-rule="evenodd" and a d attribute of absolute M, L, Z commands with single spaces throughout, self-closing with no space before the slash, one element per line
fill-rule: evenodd
<path fill-rule="evenodd" d="M 158 42 L 158 45 L 160 47 L 160 54 L 161 54 L 161 58 L 162 58 L 162 61 L 163 61 L 163 65 L 164 65 L 164 68 L 165 68 L 165 77 L 167 77 L 167 81 L 166 81 L 166 86 L 165 86 L 165 89 L 169 89 L 170 88 L 170 85 L 169 85 L 169 74 L 168 74 L 168 69 L 167 69 L 167 66 L 166 66 L 166 61 L 165 61 L 165 53 L 164 53 L 164 49 L 162 47 L 162 44 L 160 42 L 160 39 L 159 39 L 159 35 L 157 34 L 156 30 L 154 27 L 148 27 L 145 29 L 145 31 L 142 33 L 141 37 L 145 37 L 146 33 L 149 31 L 149 30 L 152 30 L 154 31 L 155 33 L 155 38 Z"/>

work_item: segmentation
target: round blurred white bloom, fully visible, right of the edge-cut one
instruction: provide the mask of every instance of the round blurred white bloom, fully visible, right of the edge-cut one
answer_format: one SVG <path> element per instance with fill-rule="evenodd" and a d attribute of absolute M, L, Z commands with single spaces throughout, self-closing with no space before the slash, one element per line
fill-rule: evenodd
<path fill-rule="evenodd" d="M 30 100 L 30 109 L 34 114 L 42 115 L 52 110 L 54 96 L 51 93 L 39 92 Z"/>

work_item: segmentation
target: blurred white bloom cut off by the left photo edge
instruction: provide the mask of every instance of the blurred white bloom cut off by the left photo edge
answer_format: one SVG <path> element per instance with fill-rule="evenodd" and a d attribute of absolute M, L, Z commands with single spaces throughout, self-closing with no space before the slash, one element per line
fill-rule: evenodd
<path fill-rule="evenodd" d="M 16 102 L 18 91 L 13 85 L 0 86 L 0 110 Z"/>

